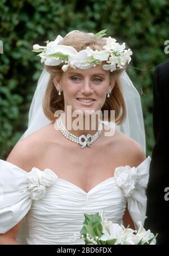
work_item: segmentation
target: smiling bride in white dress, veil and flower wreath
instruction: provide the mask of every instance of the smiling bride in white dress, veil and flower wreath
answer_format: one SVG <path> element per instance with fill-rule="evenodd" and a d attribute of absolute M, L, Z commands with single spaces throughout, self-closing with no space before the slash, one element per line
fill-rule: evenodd
<path fill-rule="evenodd" d="M 72 31 L 33 47 L 45 68 L 28 129 L 0 160 L 0 244 L 73 244 L 84 213 L 102 210 L 115 223 L 144 224 L 150 157 L 125 71 L 132 52 L 104 32 Z"/>

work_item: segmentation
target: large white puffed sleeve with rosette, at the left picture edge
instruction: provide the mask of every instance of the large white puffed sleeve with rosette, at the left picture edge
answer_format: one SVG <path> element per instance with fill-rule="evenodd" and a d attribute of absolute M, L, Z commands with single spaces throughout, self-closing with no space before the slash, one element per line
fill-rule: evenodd
<path fill-rule="evenodd" d="M 24 218 L 32 200 L 45 196 L 46 186 L 57 176 L 50 169 L 33 167 L 26 172 L 15 164 L 0 159 L 0 233 L 6 233 Z"/>

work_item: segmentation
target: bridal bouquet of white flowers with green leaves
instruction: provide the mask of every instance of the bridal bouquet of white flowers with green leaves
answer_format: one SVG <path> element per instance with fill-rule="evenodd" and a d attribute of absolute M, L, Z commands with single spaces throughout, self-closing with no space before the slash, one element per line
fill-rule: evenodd
<path fill-rule="evenodd" d="M 96 214 L 84 214 L 83 227 L 74 235 L 84 240 L 86 245 L 155 245 L 156 236 L 145 231 L 139 222 L 139 230 L 124 228 L 123 225 L 104 219 L 104 211 Z"/>

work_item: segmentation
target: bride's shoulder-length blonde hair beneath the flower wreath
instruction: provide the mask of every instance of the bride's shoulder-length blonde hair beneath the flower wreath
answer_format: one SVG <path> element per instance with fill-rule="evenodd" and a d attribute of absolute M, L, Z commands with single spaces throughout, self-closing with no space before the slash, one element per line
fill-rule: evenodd
<path fill-rule="evenodd" d="M 92 50 L 104 50 L 103 46 L 105 45 L 104 38 L 96 38 L 94 35 L 87 32 L 79 31 L 72 32 L 68 36 L 65 36 L 63 40 L 59 42 L 59 45 L 69 45 L 73 46 L 75 50 L 81 51 L 86 49 L 87 46 L 90 46 Z M 45 64 L 44 64 L 45 65 Z M 48 119 L 55 121 L 56 117 L 54 113 L 56 110 L 64 111 L 64 96 L 61 93 L 61 96 L 56 92 L 54 85 L 54 76 L 61 79 L 63 70 L 61 67 L 64 63 L 61 63 L 59 66 L 47 66 L 45 65 L 46 70 L 50 73 L 50 80 L 48 81 L 45 97 L 43 98 L 43 111 Z M 125 69 L 119 68 L 113 72 L 110 72 L 110 77 L 115 79 L 115 84 L 110 94 L 110 97 L 105 100 L 101 111 L 108 110 L 108 120 L 110 121 L 110 110 L 115 110 L 115 123 L 122 124 L 126 118 L 126 105 L 124 102 L 122 87 L 119 76 L 121 72 Z"/>

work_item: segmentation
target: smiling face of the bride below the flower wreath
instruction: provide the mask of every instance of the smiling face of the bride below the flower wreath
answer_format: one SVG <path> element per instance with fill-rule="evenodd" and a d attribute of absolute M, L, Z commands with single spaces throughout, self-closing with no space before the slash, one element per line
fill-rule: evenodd
<path fill-rule="evenodd" d="M 54 77 L 54 84 L 61 88 L 64 94 L 65 109 L 68 105 L 74 110 L 101 110 L 103 107 L 106 93 L 112 90 L 115 79 L 110 81 L 110 71 L 105 71 L 101 66 L 91 67 L 87 70 L 69 67 L 63 72 L 60 83 Z M 84 102 L 83 99 L 91 99 Z"/>

